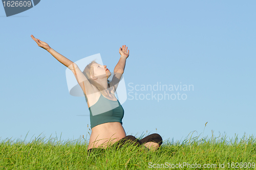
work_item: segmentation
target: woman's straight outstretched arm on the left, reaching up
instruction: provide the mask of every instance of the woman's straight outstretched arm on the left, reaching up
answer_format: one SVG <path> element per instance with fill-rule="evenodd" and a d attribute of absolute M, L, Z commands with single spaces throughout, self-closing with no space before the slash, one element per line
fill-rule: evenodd
<path fill-rule="evenodd" d="M 72 62 L 65 56 L 62 56 L 61 54 L 53 50 L 53 48 L 51 48 L 46 42 L 40 41 L 33 35 L 31 35 L 31 38 L 37 43 L 38 46 L 47 50 L 54 58 L 56 58 L 60 63 L 68 67 L 73 72 L 84 94 L 87 94 L 86 92 L 93 90 L 91 83 L 87 80 L 86 76 L 83 75 L 82 71 L 79 69 L 76 63 Z"/>

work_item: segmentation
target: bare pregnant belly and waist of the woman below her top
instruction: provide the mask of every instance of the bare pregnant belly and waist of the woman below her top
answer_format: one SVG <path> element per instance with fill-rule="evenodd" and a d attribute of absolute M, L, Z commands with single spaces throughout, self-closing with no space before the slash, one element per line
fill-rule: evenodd
<path fill-rule="evenodd" d="M 91 148 L 106 148 L 125 137 L 123 126 L 119 122 L 100 124 L 92 128 L 88 150 Z"/>

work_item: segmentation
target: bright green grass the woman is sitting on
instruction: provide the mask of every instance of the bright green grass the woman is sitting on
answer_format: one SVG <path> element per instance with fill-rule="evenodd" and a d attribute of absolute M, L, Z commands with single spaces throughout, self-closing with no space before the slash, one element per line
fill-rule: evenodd
<path fill-rule="evenodd" d="M 253 136 L 229 140 L 226 136 L 191 136 L 164 141 L 155 152 L 127 146 L 90 156 L 82 137 L 73 141 L 35 138 L 27 143 L 6 139 L 0 142 L 0 169 L 256 169 Z"/>

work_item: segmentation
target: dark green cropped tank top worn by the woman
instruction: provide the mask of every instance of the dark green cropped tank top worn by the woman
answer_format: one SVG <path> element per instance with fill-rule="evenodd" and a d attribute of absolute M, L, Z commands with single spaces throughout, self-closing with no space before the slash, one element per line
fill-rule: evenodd
<path fill-rule="evenodd" d="M 122 124 L 124 110 L 119 101 L 106 99 L 101 93 L 99 100 L 89 108 L 89 111 L 91 128 L 109 122 Z"/>

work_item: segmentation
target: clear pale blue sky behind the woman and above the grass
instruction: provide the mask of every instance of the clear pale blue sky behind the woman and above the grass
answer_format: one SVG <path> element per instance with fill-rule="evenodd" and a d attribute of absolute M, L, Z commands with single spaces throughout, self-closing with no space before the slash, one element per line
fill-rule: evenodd
<path fill-rule="evenodd" d="M 27 140 L 41 133 L 78 139 L 89 131 L 89 116 L 77 116 L 89 114 L 86 100 L 69 94 L 66 67 L 31 34 L 72 61 L 100 53 L 111 71 L 119 47 L 128 46 L 127 135 L 157 132 L 176 141 L 203 133 L 206 122 L 204 136 L 255 135 L 255 7 L 255 1 L 42 0 L 6 17 L 0 5 L 0 140 L 27 133 Z"/>

